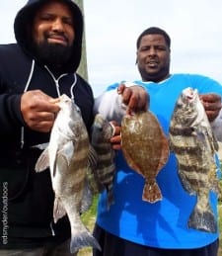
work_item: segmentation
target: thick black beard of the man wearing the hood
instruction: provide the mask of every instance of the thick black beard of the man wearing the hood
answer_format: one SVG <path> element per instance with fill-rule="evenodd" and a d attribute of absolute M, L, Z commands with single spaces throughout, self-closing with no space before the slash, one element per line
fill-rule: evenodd
<path fill-rule="evenodd" d="M 72 47 L 59 43 L 34 43 L 35 54 L 40 62 L 53 69 L 66 65 L 72 54 Z"/>

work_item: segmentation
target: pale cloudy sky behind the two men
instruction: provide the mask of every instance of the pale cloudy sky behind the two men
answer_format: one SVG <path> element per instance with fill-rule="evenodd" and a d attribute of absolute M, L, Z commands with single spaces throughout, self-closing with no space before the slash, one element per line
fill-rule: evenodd
<path fill-rule="evenodd" d="M 14 43 L 13 23 L 26 0 L 1 1 L 0 43 Z M 155 26 L 171 37 L 171 73 L 198 73 L 222 84 L 221 0 L 84 0 L 88 79 L 95 96 L 140 79 L 135 43 Z"/>

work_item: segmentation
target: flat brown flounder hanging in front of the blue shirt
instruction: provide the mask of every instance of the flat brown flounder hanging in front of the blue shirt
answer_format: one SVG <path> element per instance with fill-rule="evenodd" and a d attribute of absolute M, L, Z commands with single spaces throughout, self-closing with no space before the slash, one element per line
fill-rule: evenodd
<path fill-rule="evenodd" d="M 121 143 L 128 165 L 145 179 L 142 200 L 162 200 L 156 176 L 169 158 L 169 143 L 154 114 L 146 111 L 124 116 Z"/>

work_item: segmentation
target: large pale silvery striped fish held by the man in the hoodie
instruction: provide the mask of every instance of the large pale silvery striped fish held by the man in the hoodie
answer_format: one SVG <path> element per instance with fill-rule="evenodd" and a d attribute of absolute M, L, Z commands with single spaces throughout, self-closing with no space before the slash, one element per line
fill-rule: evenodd
<path fill-rule="evenodd" d="M 87 129 L 78 106 L 68 96 L 62 95 L 58 105 L 60 111 L 51 130 L 48 147 L 37 160 L 36 171 L 49 167 L 55 194 L 54 222 L 67 213 L 71 226 L 71 253 L 85 246 L 100 249 L 80 218 L 80 213 L 85 211 L 82 206 L 89 195 L 86 192 L 90 150 Z"/>

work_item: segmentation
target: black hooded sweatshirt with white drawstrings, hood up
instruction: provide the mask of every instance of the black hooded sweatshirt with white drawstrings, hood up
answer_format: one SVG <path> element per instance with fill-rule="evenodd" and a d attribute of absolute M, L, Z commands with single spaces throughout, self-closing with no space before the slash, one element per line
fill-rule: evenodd
<path fill-rule="evenodd" d="M 61 0 L 70 7 L 75 26 L 72 57 L 61 73 L 55 76 L 32 51 L 27 25 L 46 2 L 28 1 L 15 19 L 17 43 L 0 45 L 0 248 L 37 246 L 45 238 L 64 240 L 70 235 L 67 217 L 52 223 L 54 194 L 49 171 L 36 174 L 34 169 L 40 152 L 32 145 L 48 142 L 49 132 L 26 126 L 20 109 L 22 94 L 37 89 L 55 98 L 73 93 L 88 130 L 93 122 L 92 89 L 75 73 L 81 58 L 83 17 L 73 1 Z"/>

